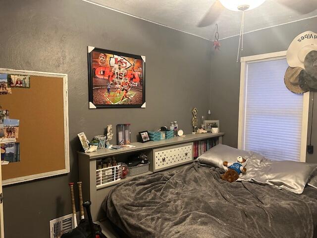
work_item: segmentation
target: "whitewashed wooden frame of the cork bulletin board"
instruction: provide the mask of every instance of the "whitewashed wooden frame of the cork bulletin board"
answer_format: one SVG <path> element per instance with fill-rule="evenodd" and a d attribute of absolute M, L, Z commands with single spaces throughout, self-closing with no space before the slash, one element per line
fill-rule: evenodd
<path fill-rule="evenodd" d="M 47 177 L 67 174 L 70 171 L 69 168 L 69 128 L 68 128 L 68 76 L 62 73 L 51 73 L 51 72 L 39 72 L 39 71 L 29 71 L 29 70 L 16 70 L 0 68 L 0 73 L 7 74 L 28 74 L 32 76 L 43 76 L 43 77 L 55 77 L 63 79 L 63 111 L 64 111 L 64 148 L 65 148 L 65 169 L 51 171 L 46 173 L 40 173 L 35 175 L 17 177 L 12 179 L 2 180 L 3 185 L 9 185 L 19 182 L 31 181 L 34 179 L 43 179 Z"/>

